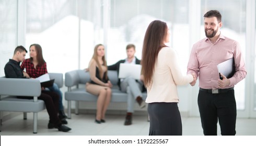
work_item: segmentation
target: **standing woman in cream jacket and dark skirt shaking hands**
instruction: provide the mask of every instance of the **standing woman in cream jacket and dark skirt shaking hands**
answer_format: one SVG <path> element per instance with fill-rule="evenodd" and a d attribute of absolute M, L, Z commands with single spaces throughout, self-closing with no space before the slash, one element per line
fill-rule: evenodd
<path fill-rule="evenodd" d="M 177 85 L 195 80 L 183 76 L 173 48 L 166 22 L 155 20 L 146 30 L 142 50 L 142 75 L 147 88 L 149 135 L 182 135 L 181 117 L 177 103 Z"/>

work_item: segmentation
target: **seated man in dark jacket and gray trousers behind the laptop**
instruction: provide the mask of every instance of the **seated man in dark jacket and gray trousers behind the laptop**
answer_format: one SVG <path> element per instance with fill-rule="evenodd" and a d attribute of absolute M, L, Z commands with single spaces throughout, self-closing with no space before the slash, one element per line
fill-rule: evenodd
<path fill-rule="evenodd" d="M 119 74 L 119 65 L 120 63 L 125 64 L 141 64 L 141 60 L 137 59 L 135 54 L 135 45 L 129 44 L 126 46 L 127 58 L 119 60 L 114 65 L 108 66 L 108 70 L 117 70 Z M 119 79 L 118 86 L 122 92 L 128 93 L 127 99 L 127 114 L 125 117 L 124 125 L 132 124 L 132 113 L 134 112 L 134 101 L 136 100 L 139 104 L 139 107 L 144 108 L 146 106 L 145 101 L 142 99 L 142 91 L 145 89 L 142 80 L 135 80 L 132 77 L 125 79 Z"/>

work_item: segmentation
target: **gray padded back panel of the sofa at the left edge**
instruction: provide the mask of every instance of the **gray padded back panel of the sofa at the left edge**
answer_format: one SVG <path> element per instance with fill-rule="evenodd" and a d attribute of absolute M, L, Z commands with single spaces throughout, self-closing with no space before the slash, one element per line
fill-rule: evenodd
<path fill-rule="evenodd" d="M 0 95 L 40 96 L 41 84 L 34 79 L 0 78 Z"/>

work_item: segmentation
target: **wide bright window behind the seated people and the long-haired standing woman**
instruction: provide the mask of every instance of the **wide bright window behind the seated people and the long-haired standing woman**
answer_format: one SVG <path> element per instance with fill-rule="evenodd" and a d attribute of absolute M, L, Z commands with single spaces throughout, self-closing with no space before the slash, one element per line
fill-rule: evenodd
<path fill-rule="evenodd" d="M 188 9 L 188 0 L 27 0 L 26 47 L 40 44 L 48 71 L 63 74 L 87 68 L 98 43 L 107 48 L 108 65 L 126 57 L 125 46 L 129 43 L 136 45 L 136 56 L 141 59 L 146 28 L 158 19 L 168 23 L 169 45 L 181 55 L 185 73 Z"/>

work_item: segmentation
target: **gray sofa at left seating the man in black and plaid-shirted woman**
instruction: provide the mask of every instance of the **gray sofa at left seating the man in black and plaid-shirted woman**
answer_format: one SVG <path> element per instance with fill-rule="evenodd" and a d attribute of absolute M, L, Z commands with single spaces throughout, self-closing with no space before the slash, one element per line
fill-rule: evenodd
<path fill-rule="evenodd" d="M 49 73 L 54 82 L 63 87 L 63 74 Z M 37 133 L 38 112 L 45 109 L 44 102 L 38 100 L 41 94 L 41 84 L 39 80 L 33 79 L 11 79 L 0 78 L 0 131 L 2 125 L 2 112 L 24 112 L 24 119 L 27 119 L 27 113 L 33 113 L 33 133 Z M 33 100 L 17 99 L 16 96 L 33 96 Z"/>

